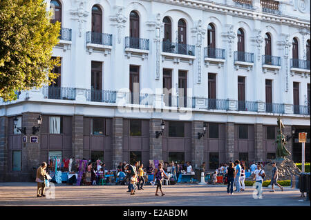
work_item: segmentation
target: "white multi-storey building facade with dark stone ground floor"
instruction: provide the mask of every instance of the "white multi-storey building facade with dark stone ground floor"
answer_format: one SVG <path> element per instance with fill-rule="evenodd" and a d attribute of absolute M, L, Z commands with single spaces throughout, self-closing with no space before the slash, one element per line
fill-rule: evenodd
<path fill-rule="evenodd" d="M 47 0 L 47 10 L 62 23 L 60 76 L 0 103 L 1 181 L 28 181 L 55 155 L 110 169 L 266 161 L 277 117 L 294 161 L 308 132 L 310 161 L 310 1 Z"/>

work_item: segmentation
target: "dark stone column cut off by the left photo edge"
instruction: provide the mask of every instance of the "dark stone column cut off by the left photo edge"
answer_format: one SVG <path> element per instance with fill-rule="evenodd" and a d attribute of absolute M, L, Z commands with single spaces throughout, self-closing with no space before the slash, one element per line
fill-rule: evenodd
<path fill-rule="evenodd" d="M 6 181 L 8 171 L 8 117 L 0 117 L 0 182 Z"/>

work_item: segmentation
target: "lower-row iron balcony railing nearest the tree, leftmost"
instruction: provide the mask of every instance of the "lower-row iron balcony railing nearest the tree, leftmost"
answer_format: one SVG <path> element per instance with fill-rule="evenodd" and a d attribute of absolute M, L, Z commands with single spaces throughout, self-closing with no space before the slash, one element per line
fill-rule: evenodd
<path fill-rule="evenodd" d="M 41 90 L 44 94 L 44 99 L 75 100 L 75 88 L 44 86 Z"/>

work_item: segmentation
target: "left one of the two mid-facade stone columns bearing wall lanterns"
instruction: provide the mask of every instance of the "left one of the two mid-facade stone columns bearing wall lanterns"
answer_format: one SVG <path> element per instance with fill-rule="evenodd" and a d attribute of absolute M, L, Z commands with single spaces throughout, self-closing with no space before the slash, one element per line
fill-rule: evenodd
<path fill-rule="evenodd" d="M 162 119 L 151 119 L 149 121 L 149 143 L 150 159 L 162 159 L 162 136 L 156 138 L 156 131 L 161 130 Z"/>

